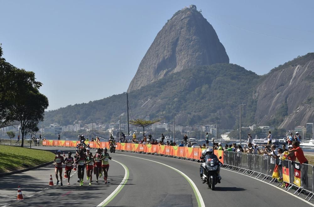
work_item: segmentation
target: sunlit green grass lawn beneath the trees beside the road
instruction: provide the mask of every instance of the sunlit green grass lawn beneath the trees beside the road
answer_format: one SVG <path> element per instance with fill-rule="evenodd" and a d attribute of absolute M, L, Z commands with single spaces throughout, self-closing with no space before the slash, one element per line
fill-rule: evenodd
<path fill-rule="evenodd" d="M 19 146 L 0 145 L 0 157 L 0 173 L 7 173 L 51 162 L 55 154 Z"/>

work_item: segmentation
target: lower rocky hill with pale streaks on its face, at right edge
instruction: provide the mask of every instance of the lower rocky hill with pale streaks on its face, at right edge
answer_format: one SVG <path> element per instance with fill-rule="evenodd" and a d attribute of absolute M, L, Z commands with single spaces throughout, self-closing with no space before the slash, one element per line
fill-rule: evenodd
<path fill-rule="evenodd" d="M 294 129 L 314 120 L 314 53 L 271 70 L 257 86 L 255 120 Z"/>

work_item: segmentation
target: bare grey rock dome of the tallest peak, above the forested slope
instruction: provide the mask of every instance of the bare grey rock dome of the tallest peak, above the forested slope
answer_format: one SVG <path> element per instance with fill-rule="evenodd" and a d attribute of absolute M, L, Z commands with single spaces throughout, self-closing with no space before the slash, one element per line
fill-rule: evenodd
<path fill-rule="evenodd" d="M 127 91 L 183 69 L 214 63 L 229 63 L 229 57 L 212 25 L 191 5 L 176 12 L 157 34 Z"/>

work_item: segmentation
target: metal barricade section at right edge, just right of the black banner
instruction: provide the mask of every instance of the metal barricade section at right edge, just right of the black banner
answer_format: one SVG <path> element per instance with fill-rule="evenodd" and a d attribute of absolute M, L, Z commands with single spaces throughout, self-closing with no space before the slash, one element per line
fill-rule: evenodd
<path fill-rule="evenodd" d="M 307 191 L 313 192 L 313 166 L 301 164 L 301 187 Z"/>

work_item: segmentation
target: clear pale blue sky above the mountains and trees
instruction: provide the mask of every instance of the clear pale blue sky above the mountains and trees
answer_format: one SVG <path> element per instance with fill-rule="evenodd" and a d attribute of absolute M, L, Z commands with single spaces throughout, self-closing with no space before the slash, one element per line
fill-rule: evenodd
<path fill-rule="evenodd" d="M 312 0 L 0 0 L 0 43 L 7 61 L 43 83 L 48 110 L 58 109 L 127 91 L 156 34 L 190 4 L 202 9 L 230 62 L 259 75 L 314 52 Z"/>

